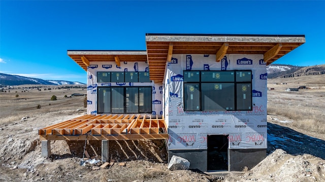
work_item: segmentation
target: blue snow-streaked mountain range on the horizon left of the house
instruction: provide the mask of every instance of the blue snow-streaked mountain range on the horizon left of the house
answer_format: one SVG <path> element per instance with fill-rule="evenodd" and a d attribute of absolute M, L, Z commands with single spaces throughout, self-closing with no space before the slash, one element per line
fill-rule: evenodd
<path fill-rule="evenodd" d="M 0 73 L 0 85 L 25 85 L 25 84 L 40 84 L 40 85 L 85 85 L 80 82 L 69 82 L 69 81 L 47 81 L 36 78 L 22 77 L 18 75 L 8 75 Z"/>

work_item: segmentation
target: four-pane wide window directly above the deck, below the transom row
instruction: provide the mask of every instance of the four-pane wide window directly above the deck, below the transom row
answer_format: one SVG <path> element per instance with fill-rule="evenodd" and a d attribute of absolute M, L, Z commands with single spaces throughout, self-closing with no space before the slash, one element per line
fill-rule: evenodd
<path fill-rule="evenodd" d="M 98 87 L 98 113 L 151 113 L 151 87 Z"/>

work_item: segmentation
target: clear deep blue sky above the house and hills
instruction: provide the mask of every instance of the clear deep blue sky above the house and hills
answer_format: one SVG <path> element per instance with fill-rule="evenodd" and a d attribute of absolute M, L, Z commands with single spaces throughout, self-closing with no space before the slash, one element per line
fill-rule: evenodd
<path fill-rule="evenodd" d="M 0 72 L 86 83 L 67 50 L 145 50 L 145 33 L 304 34 L 275 63 L 325 64 L 325 1 L 3 1 Z"/>

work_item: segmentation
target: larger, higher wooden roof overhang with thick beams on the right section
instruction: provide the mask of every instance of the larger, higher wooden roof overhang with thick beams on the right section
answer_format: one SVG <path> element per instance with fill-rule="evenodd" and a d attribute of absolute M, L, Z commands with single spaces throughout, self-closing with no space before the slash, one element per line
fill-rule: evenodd
<path fill-rule="evenodd" d="M 305 43 L 305 35 L 146 34 L 150 80 L 162 82 L 172 54 L 262 54 L 271 64 Z"/>

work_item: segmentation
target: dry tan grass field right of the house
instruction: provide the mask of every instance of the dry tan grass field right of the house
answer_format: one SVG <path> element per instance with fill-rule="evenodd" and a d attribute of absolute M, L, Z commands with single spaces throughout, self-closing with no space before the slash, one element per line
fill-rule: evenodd
<path fill-rule="evenodd" d="M 286 83 L 286 84 L 284 84 Z M 285 91 L 306 86 L 309 89 Z M 283 116 L 296 127 L 325 134 L 325 75 L 268 80 L 268 114 Z"/>

